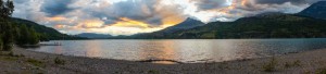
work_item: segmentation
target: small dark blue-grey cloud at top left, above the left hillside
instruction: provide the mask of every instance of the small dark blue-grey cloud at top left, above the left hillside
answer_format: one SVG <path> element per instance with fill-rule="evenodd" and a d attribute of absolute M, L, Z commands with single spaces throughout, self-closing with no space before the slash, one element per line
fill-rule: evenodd
<path fill-rule="evenodd" d="M 46 12 L 49 16 L 64 14 L 74 10 L 68 7 L 71 3 L 73 0 L 45 0 L 41 12 Z"/>

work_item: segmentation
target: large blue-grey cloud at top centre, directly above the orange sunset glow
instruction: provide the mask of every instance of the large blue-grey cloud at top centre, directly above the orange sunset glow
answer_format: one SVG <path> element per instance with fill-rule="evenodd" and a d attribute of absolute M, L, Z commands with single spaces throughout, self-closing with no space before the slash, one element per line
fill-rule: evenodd
<path fill-rule="evenodd" d="M 125 1 L 112 4 L 110 10 L 112 17 L 128 17 L 136 21 L 147 22 L 153 25 L 162 24 L 162 20 L 154 11 L 155 1 Z"/>

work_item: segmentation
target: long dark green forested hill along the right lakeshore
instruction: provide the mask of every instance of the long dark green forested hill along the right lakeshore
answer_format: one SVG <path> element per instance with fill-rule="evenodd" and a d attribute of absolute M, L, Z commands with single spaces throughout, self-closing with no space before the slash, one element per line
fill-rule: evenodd
<path fill-rule="evenodd" d="M 321 38 L 326 21 L 293 14 L 272 13 L 235 22 L 213 22 L 172 34 L 172 38 Z"/>

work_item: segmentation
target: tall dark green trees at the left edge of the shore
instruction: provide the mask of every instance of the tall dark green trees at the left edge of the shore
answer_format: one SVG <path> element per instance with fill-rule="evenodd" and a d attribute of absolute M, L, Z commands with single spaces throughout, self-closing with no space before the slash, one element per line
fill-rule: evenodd
<path fill-rule="evenodd" d="M 39 35 L 35 29 L 24 24 L 11 21 L 14 4 L 12 0 L 0 0 L 0 50 L 10 51 L 14 44 L 36 45 L 39 42 Z"/>

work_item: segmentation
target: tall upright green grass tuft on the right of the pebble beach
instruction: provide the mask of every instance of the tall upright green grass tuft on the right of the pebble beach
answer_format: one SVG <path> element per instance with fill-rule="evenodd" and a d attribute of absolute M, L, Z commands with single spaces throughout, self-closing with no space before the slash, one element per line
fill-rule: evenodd
<path fill-rule="evenodd" d="M 271 61 L 263 64 L 263 71 L 264 72 L 273 72 L 273 71 L 276 71 L 276 66 L 277 66 L 277 61 L 276 61 L 275 57 L 273 57 Z"/>

